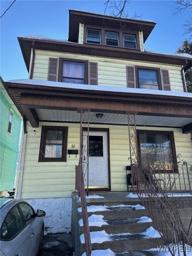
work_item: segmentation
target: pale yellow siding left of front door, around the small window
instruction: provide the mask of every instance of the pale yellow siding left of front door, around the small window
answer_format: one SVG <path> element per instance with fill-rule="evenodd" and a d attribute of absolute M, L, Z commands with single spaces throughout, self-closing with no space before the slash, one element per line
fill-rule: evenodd
<path fill-rule="evenodd" d="M 67 155 L 67 162 L 38 162 L 39 143 L 42 125 L 60 126 L 61 123 L 40 123 L 39 128 L 33 128 L 27 122 L 27 144 L 23 172 L 21 198 L 71 197 L 75 191 L 75 165 L 78 165 L 79 155 Z M 68 148 L 79 149 L 79 124 L 68 126 Z M 18 177 L 19 178 L 19 177 Z"/>

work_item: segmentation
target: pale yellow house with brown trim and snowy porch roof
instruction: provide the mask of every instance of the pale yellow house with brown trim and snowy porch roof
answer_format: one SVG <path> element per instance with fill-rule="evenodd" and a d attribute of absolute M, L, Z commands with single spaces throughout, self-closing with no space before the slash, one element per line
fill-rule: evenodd
<path fill-rule="evenodd" d="M 46 211 L 48 232 L 70 231 L 79 160 L 95 191 L 127 191 L 134 147 L 192 162 L 192 56 L 146 51 L 155 24 L 70 10 L 68 40 L 18 38 L 29 79 L 3 83 L 24 120 L 15 194 Z"/>

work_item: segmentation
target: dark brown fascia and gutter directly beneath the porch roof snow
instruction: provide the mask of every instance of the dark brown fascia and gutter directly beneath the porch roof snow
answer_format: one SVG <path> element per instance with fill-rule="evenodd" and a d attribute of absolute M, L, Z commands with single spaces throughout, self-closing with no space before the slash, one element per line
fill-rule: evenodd
<path fill-rule="evenodd" d="M 11 92 L 23 93 L 27 95 L 58 95 L 60 97 L 70 96 L 73 98 L 98 98 L 104 100 L 120 100 L 120 101 L 142 101 L 142 102 L 154 102 L 159 104 L 176 104 L 176 105 L 187 105 L 192 107 L 191 96 L 180 97 L 180 96 L 170 96 L 170 95 L 157 95 L 157 94 L 142 94 L 142 93 L 130 93 L 130 92 L 111 92 L 111 91 L 92 91 L 81 88 L 64 88 L 64 87 L 53 87 L 37 84 L 19 84 L 12 82 L 3 82 L 8 94 L 12 97 Z"/>

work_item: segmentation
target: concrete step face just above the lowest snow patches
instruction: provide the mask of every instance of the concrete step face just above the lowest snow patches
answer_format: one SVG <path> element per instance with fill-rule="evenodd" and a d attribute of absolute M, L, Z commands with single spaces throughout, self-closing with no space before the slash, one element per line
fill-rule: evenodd
<path fill-rule="evenodd" d="M 129 239 L 105 241 L 101 244 L 92 243 L 91 247 L 92 250 L 105 250 L 110 248 L 115 253 L 122 253 L 127 251 L 149 250 L 163 245 L 164 243 L 162 238 L 142 238 L 142 236 L 137 234 L 137 236 L 132 236 Z M 82 244 L 81 246 L 81 254 L 83 252 L 85 252 L 85 244 Z"/>

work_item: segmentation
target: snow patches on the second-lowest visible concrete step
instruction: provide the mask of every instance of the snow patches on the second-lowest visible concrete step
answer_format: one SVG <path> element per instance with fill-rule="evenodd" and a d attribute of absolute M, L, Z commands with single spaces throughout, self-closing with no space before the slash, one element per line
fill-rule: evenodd
<path fill-rule="evenodd" d="M 137 233 L 137 234 L 141 234 L 141 235 L 144 235 L 145 238 L 156 238 L 156 237 L 161 237 L 159 232 L 157 230 L 155 230 L 153 227 L 149 227 L 145 232 L 142 232 L 142 233 Z M 98 244 L 101 244 L 103 242 L 106 242 L 106 241 L 113 241 L 113 240 L 119 240 L 117 238 L 117 236 L 119 236 L 119 238 L 121 236 L 129 236 L 129 235 L 133 235 L 131 233 L 122 233 L 122 234 L 107 234 L 105 232 L 105 230 L 102 230 L 102 231 L 93 231 L 93 232 L 90 232 L 90 236 L 91 236 L 91 243 L 98 243 Z M 113 239 L 113 236 L 115 236 L 116 238 Z M 81 240 L 81 243 L 84 244 L 85 243 L 85 236 L 84 234 L 81 234 L 80 235 L 80 240 Z"/>

